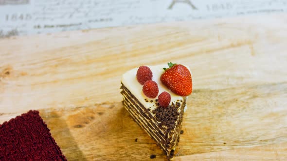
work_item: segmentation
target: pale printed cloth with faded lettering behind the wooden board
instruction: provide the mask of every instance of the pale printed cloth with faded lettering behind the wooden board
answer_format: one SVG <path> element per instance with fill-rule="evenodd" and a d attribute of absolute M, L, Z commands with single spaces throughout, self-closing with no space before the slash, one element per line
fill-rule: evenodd
<path fill-rule="evenodd" d="M 287 0 L 0 0 L 0 37 L 287 11 Z"/>

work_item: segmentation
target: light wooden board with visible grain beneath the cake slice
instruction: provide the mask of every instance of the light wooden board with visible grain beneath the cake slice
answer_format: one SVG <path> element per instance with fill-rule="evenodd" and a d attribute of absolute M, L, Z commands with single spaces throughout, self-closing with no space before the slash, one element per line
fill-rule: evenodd
<path fill-rule="evenodd" d="M 176 160 L 287 160 L 287 15 L 0 39 L 0 123 L 38 109 L 69 161 L 164 161 L 119 87 L 167 62 L 194 88 Z"/>

